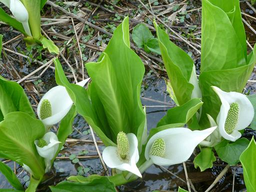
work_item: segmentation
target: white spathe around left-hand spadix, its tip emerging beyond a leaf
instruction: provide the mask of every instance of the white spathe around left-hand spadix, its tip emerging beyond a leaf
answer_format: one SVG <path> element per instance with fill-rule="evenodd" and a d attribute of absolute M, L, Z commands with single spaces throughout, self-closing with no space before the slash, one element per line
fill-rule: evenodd
<path fill-rule="evenodd" d="M 90 78 L 86 78 L 78 83 L 77 85 L 84 86 Z M 40 118 L 40 106 L 44 99 L 48 99 L 51 105 L 51 116 L 41 119 Z M 39 119 L 44 124 L 45 128 L 49 128 L 51 125 L 59 122 L 70 110 L 73 101 L 68 95 L 66 88 L 64 86 L 54 86 L 49 89 L 41 98 L 37 106 L 37 115 Z"/>

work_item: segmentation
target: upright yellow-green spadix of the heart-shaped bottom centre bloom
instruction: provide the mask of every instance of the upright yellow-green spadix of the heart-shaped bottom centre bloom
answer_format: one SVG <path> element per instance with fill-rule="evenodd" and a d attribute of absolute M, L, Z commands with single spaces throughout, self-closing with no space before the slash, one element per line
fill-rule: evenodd
<path fill-rule="evenodd" d="M 120 131 L 117 134 L 117 152 L 122 159 L 125 159 L 126 155 L 129 152 L 129 141 L 126 134 Z"/>

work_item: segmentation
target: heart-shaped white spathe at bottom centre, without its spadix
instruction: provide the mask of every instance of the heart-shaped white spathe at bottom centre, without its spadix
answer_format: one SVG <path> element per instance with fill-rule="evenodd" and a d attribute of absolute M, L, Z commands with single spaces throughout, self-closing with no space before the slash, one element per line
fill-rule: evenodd
<path fill-rule="evenodd" d="M 110 168 L 117 168 L 119 170 L 127 170 L 133 174 L 142 177 L 136 163 L 139 158 L 138 154 L 138 140 L 135 134 L 126 134 L 129 142 L 129 152 L 126 159 L 121 159 L 117 152 L 117 146 L 107 146 L 102 152 L 102 158 L 106 165 Z"/>

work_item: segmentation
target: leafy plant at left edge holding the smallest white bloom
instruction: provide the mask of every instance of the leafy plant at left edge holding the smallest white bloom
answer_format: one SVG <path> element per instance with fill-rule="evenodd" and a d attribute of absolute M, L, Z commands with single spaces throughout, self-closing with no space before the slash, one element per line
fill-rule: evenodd
<path fill-rule="evenodd" d="M 63 119 L 59 119 L 61 121 L 55 135 L 53 132 L 45 133 L 43 122 L 36 119 L 29 100 L 18 83 L 0 76 L 0 93 L 0 157 L 22 165 L 30 173 L 27 191 L 35 191 L 36 186 L 44 180 L 44 173 L 51 169 L 65 139 L 72 132 L 75 108 L 69 108 Z M 38 148 L 39 145 L 42 147 Z M 8 175 L 5 174 L 7 178 Z"/>

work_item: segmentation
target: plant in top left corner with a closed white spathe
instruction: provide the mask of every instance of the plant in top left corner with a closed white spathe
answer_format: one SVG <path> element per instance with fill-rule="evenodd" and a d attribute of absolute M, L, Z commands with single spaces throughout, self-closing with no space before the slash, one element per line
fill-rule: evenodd
<path fill-rule="evenodd" d="M 58 47 L 53 41 L 41 35 L 40 10 L 45 0 L 0 0 L 14 16 L 11 17 L 0 7 L 0 20 L 24 34 L 27 45 L 39 43 L 49 52 L 58 54 Z"/>

